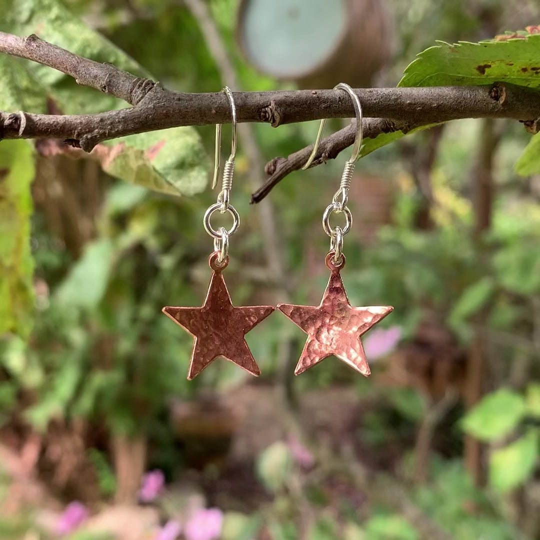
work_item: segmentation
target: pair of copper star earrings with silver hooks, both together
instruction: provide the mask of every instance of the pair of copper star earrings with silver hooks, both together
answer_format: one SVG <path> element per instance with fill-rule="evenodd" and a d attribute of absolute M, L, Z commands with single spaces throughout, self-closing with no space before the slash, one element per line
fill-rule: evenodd
<path fill-rule="evenodd" d="M 340 270 L 345 266 L 343 238 L 349 233 L 353 223 L 353 216 L 347 206 L 348 193 L 355 162 L 360 154 L 363 126 L 360 101 L 352 88 L 340 83 L 334 89 L 345 90 L 353 100 L 356 113 L 356 138 L 353 154 L 343 170 L 340 188 L 322 216 L 323 229 L 330 237 L 330 251 L 325 258 L 326 266 L 330 270 L 330 278 L 319 306 L 280 303 L 277 307 L 308 334 L 306 345 L 294 370 L 295 375 L 305 372 L 306 369 L 326 357 L 335 355 L 362 375 L 367 376 L 370 370 L 360 336 L 386 317 L 394 308 L 390 306 L 352 307 L 341 280 Z M 225 87 L 224 92 L 231 105 L 232 149 L 224 166 L 218 200 L 208 207 L 203 219 L 206 232 L 214 239 L 214 251 L 208 259 L 208 264 L 213 271 L 208 293 L 201 307 L 167 306 L 163 308 L 163 312 L 168 317 L 194 337 L 188 379 L 197 376 L 218 356 L 225 357 L 253 375 L 260 375 L 260 369 L 244 336 L 274 311 L 274 306 L 234 307 L 222 275 L 229 262 L 229 238 L 240 225 L 238 212 L 230 203 L 236 153 L 236 110 L 231 90 Z M 326 119 L 323 119 L 313 152 L 302 167 L 303 169 L 308 168 L 316 156 L 325 124 Z M 217 184 L 219 176 L 220 147 L 221 124 L 218 124 L 215 130 L 215 166 L 212 187 Z M 215 211 L 228 212 L 232 215 L 233 225 L 230 230 L 227 231 L 224 227 L 215 230 L 212 227 L 211 218 Z M 345 227 L 330 226 L 330 217 L 334 213 L 345 215 Z"/>

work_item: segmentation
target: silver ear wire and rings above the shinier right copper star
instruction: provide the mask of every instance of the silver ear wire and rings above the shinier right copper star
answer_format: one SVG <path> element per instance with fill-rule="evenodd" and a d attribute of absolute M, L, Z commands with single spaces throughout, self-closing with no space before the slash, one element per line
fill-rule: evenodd
<path fill-rule="evenodd" d="M 339 190 L 335 192 L 334 197 L 332 198 L 332 203 L 326 207 L 326 210 L 322 215 L 322 227 L 324 228 L 326 234 L 328 234 L 328 236 L 330 237 L 330 251 L 334 252 L 334 257 L 332 258 L 332 261 L 334 264 L 339 264 L 343 249 L 343 237 L 350 231 L 350 227 L 353 224 L 353 215 L 350 213 L 347 203 L 349 196 L 350 180 L 353 177 L 354 166 L 356 164 L 358 156 L 360 155 L 360 149 L 362 147 L 363 117 L 360 99 L 358 99 L 358 96 L 354 93 L 354 90 L 348 84 L 336 84 L 334 86 L 334 90 L 345 90 L 348 93 L 348 95 L 352 99 L 356 116 L 356 136 L 354 138 L 353 153 L 346 161 L 345 167 L 343 168 Z M 317 133 L 315 144 L 313 145 L 313 150 L 308 160 L 302 167 L 302 171 L 305 171 L 313 163 L 313 160 L 315 159 L 315 156 L 319 151 L 322 131 L 325 129 L 325 125 L 326 118 L 323 118 L 321 120 L 321 125 L 319 126 L 319 132 Z M 333 212 L 345 213 L 345 227 L 343 229 L 338 226 L 334 228 L 330 227 L 330 214 L 332 214 Z"/>

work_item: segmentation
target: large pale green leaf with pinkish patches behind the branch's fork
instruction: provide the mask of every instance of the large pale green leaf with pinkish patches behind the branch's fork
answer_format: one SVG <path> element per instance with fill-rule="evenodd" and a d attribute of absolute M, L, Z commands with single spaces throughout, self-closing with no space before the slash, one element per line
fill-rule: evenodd
<path fill-rule="evenodd" d="M 8 14 L 3 30 L 21 36 L 36 33 L 77 55 L 110 62 L 138 77 L 151 78 L 135 60 L 73 16 L 59 0 L 9 0 L 3 12 Z M 8 68 L 3 69 L 4 64 Z M 66 114 L 95 113 L 127 106 L 123 100 L 78 86 L 64 73 L 35 62 L 20 63 L 5 57 L 0 63 L 0 76 L 4 71 L 10 83 L 5 103 L 0 96 L 0 105 L 5 105 L 0 108 L 5 110 L 44 112 L 47 93 Z M 104 170 L 112 176 L 152 190 L 193 195 L 206 186 L 207 157 L 193 127 L 175 127 L 107 141 L 99 145 L 95 153 Z"/>

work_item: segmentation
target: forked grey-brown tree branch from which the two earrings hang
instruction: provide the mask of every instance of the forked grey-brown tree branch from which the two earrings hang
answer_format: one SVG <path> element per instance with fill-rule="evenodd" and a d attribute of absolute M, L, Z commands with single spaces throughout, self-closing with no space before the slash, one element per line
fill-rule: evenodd
<path fill-rule="evenodd" d="M 83 58 L 44 42 L 0 32 L 0 52 L 45 64 L 133 105 L 130 109 L 98 114 L 59 116 L 27 112 L 0 112 L 0 138 L 70 139 L 89 152 L 103 140 L 134 133 L 186 125 L 230 123 L 230 109 L 222 92 L 183 93 L 166 90 L 150 79 L 139 78 Z M 355 90 L 362 103 L 365 137 L 380 133 L 447 122 L 459 118 L 511 118 L 535 129 L 540 117 L 540 92 L 498 83 L 485 86 L 375 88 Z M 234 92 L 238 122 L 266 122 L 273 127 L 321 118 L 348 118 L 352 103 L 339 90 Z M 321 144 L 315 165 L 332 159 L 353 142 L 351 126 Z M 260 201 L 289 172 L 305 162 L 309 149 L 266 166 L 270 178 L 252 200 Z"/>

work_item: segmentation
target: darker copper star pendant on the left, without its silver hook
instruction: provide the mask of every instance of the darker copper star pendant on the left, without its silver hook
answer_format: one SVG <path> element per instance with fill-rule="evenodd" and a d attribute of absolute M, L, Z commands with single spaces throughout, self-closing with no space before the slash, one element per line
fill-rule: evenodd
<path fill-rule="evenodd" d="M 218 253 L 208 259 L 214 271 L 206 300 L 201 307 L 164 307 L 163 313 L 186 329 L 194 338 L 189 380 L 223 356 L 252 375 L 261 374 L 244 336 L 274 311 L 274 306 L 234 307 L 221 272 L 228 257 L 220 265 Z"/>

